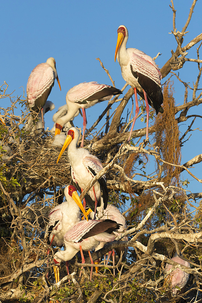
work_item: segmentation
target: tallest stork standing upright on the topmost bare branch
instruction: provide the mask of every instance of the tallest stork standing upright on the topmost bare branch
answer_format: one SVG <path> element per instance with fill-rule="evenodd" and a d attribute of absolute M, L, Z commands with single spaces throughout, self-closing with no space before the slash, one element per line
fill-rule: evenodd
<path fill-rule="evenodd" d="M 136 110 L 128 141 L 131 139 L 134 124 L 139 113 L 137 93 L 146 102 L 147 139 L 149 128 L 149 105 L 155 108 L 156 114 L 158 112 L 163 113 L 163 108 L 161 107 L 161 104 L 163 103 L 161 72 L 150 56 L 136 48 L 126 48 L 128 30 L 124 25 L 120 25 L 117 32 L 118 38 L 115 51 L 115 62 L 117 57 L 118 63 L 121 66 L 122 77 L 131 85 L 135 94 Z"/>

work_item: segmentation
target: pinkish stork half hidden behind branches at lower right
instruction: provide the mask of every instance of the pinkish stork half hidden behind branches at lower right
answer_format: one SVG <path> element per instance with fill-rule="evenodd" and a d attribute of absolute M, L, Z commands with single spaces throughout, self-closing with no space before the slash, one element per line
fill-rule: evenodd
<path fill-rule="evenodd" d="M 174 257 L 171 258 L 172 261 L 175 261 L 179 264 L 182 264 L 184 266 L 190 267 L 190 263 L 187 261 L 184 261 L 180 259 L 177 255 L 177 252 L 175 253 Z M 173 265 L 166 264 L 165 270 L 169 271 Z M 180 295 L 184 293 L 187 281 L 189 280 L 189 274 L 187 272 L 182 271 L 180 268 L 176 268 L 174 271 L 171 272 L 172 276 L 172 297 L 175 297 L 176 295 Z M 179 288 L 176 288 L 179 287 Z"/>

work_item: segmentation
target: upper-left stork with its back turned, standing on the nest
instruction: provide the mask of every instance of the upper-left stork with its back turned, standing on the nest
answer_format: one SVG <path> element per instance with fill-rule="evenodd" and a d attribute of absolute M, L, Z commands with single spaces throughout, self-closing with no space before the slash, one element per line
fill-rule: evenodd
<path fill-rule="evenodd" d="M 54 85 L 55 78 L 60 82 L 55 67 L 55 59 L 50 57 L 46 63 L 38 64 L 31 72 L 27 82 L 27 98 L 30 107 L 39 112 L 41 109 L 41 118 L 44 128 L 43 106 Z"/>

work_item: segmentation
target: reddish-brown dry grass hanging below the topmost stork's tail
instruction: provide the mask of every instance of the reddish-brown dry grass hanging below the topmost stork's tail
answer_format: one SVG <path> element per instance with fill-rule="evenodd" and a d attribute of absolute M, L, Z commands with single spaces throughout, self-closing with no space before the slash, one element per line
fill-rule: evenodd
<path fill-rule="evenodd" d="M 172 164 L 180 165 L 181 148 L 179 141 L 179 128 L 175 119 L 175 100 L 173 98 L 173 84 L 168 82 L 164 86 L 164 113 L 155 118 L 155 140 L 156 146 L 159 146 L 161 158 Z M 163 173 L 163 181 L 166 184 L 179 183 L 180 171 L 172 165 L 163 163 L 157 168 L 158 173 Z"/>

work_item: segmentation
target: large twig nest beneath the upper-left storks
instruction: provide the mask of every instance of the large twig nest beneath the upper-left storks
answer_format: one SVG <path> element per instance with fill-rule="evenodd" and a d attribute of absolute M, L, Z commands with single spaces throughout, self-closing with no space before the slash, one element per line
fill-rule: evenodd
<path fill-rule="evenodd" d="M 10 145 L 13 156 L 9 164 L 5 162 L 6 175 L 17 179 L 22 195 L 37 188 L 55 189 L 71 182 L 67 151 L 56 164 L 61 147 L 53 146 L 52 142 L 52 136 L 45 132 Z"/>

